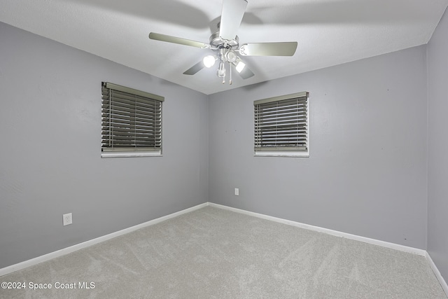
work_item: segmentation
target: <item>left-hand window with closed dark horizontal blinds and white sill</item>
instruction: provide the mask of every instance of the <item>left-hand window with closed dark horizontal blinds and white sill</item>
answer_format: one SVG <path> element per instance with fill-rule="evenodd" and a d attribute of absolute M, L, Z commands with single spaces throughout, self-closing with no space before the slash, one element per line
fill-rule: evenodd
<path fill-rule="evenodd" d="M 162 155 L 164 97 L 102 83 L 102 157 Z"/>

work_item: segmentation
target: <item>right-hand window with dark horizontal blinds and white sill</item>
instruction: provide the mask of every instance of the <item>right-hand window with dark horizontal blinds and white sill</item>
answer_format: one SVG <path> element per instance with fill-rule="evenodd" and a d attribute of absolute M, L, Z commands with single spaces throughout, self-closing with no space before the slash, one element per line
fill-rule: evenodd
<path fill-rule="evenodd" d="M 308 92 L 253 102 L 255 155 L 309 156 Z"/>

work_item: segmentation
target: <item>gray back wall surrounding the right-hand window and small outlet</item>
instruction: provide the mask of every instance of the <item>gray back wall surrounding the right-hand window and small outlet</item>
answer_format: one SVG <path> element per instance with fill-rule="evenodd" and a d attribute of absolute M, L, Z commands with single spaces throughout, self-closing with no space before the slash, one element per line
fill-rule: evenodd
<path fill-rule="evenodd" d="M 305 90 L 309 158 L 253 157 L 253 101 Z M 209 201 L 426 249 L 426 92 L 420 46 L 209 96 Z"/>

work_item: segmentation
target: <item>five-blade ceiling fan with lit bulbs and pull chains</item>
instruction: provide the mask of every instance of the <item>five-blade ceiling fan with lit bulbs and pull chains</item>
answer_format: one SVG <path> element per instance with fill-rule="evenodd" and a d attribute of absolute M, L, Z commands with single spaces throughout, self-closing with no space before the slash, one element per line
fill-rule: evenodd
<path fill-rule="evenodd" d="M 246 11 L 247 0 L 223 0 L 223 10 L 221 13 L 221 22 L 218 23 L 218 32 L 211 34 L 209 43 L 192 41 L 190 39 L 181 39 L 176 36 L 169 36 L 151 32 L 149 38 L 157 41 L 166 41 L 168 43 L 179 43 L 185 46 L 192 46 L 203 49 L 210 49 L 215 55 L 207 55 L 204 60 L 190 67 L 183 72 L 185 75 L 194 75 L 204 67 L 213 67 L 218 61 L 218 71 L 216 75 L 223 78 L 225 83 L 225 63 L 227 62 L 229 70 L 229 84 L 232 84 L 232 66 L 243 79 L 251 78 L 253 72 L 241 60 L 242 56 L 293 56 L 297 49 L 297 42 L 276 42 L 276 43 L 244 43 L 239 46 L 237 31 L 244 12 Z M 239 54 L 239 55 L 238 55 Z"/>

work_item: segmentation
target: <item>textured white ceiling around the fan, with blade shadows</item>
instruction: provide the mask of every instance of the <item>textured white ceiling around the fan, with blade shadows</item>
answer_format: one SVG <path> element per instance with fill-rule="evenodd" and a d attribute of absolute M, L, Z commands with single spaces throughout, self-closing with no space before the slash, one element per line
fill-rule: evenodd
<path fill-rule="evenodd" d="M 293 57 L 243 57 L 255 76 L 222 84 L 216 68 L 183 71 L 211 50 L 148 39 L 209 42 L 222 0 L 0 0 L 0 21 L 167 81 L 212 94 L 428 43 L 448 0 L 248 0 L 238 36 L 297 41 Z M 0 41 L 1 42 L 1 41 Z"/>

